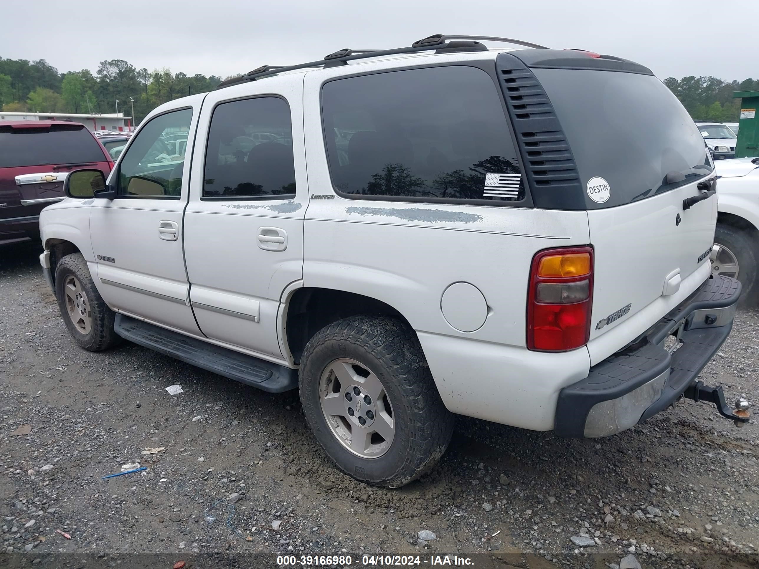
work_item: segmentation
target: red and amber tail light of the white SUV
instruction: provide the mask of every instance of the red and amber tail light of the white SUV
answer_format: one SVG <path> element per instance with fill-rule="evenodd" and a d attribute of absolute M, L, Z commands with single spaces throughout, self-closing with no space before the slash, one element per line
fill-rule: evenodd
<path fill-rule="evenodd" d="M 532 259 L 527 347 L 559 352 L 587 344 L 593 303 L 593 249 L 540 251 Z"/>

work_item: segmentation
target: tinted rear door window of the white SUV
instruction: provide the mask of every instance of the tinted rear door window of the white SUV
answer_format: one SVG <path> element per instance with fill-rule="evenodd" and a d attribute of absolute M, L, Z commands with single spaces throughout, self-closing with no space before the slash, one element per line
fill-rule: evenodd
<path fill-rule="evenodd" d="M 290 108 L 279 97 L 225 102 L 213 111 L 203 196 L 295 193 Z"/>

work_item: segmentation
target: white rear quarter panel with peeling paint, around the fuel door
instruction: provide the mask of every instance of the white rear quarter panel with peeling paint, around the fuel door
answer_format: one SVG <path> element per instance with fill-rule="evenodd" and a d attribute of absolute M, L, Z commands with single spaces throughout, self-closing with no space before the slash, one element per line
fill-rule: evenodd
<path fill-rule="evenodd" d="M 367 71 L 394 66 L 394 61 L 366 64 Z M 587 376 L 587 350 L 527 350 L 531 261 L 539 250 L 589 244 L 587 212 L 337 195 L 320 121 L 320 83 L 339 73 L 307 74 L 304 83 L 312 198 L 304 220 L 304 286 L 362 294 L 398 310 L 417 332 L 449 410 L 552 428 L 559 389 Z M 446 289 L 462 282 L 476 288 L 486 304 L 481 325 L 470 332 L 449 323 L 442 307 Z M 470 302 L 474 296 L 455 306 L 458 316 L 481 308 Z"/>

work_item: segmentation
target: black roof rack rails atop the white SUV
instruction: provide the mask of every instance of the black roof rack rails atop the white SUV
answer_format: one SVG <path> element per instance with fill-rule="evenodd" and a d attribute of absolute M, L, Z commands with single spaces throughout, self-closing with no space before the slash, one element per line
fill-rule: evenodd
<path fill-rule="evenodd" d="M 231 77 L 222 81 L 216 86 L 216 89 L 223 89 L 245 81 L 255 81 L 270 75 L 276 75 L 284 71 L 294 71 L 296 69 L 306 68 L 329 68 L 337 65 L 347 65 L 348 61 L 356 59 L 382 57 L 383 55 L 397 55 L 402 53 L 425 52 L 435 50 L 436 52 L 462 52 L 462 51 L 486 51 L 487 47 L 483 46 L 480 41 L 488 42 L 505 42 L 512 43 L 515 46 L 526 46 L 537 49 L 548 49 L 546 46 L 540 46 L 537 43 L 523 42 L 520 39 L 511 39 L 495 36 L 444 36 L 442 33 L 436 33 L 411 44 L 411 47 L 402 47 L 395 49 L 339 49 L 336 52 L 326 55 L 320 61 L 309 61 L 297 65 L 262 65 L 253 71 L 239 77 Z"/>

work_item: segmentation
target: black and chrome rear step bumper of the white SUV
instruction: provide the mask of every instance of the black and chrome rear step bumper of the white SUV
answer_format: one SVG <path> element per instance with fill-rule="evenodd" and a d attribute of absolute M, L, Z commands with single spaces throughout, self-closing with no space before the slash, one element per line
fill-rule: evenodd
<path fill-rule="evenodd" d="M 563 388 L 554 430 L 574 438 L 613 435 L 669 407 L 729 335 L 740 293 L 734 278 L 707 278 L 624 351 Z M 665 342 L 678 332 L 679 347 L 669 352 Z"/>

